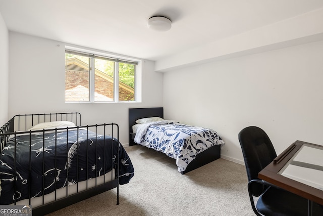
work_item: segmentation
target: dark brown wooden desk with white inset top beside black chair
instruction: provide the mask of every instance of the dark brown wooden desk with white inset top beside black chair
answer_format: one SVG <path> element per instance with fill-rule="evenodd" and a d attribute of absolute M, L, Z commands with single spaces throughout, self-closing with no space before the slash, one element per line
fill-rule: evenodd
<path fill-rule="evenodd" d="M 323 146 L 296 141 L 258 178 L 323 205 Z"/>

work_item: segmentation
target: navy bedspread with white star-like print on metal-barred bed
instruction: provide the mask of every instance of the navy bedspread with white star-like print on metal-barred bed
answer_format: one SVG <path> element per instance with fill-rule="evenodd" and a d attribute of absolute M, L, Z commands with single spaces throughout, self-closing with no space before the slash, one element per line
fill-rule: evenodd
<path fill-rule="evenodd" d="M 128 183 L 134 175 L 125 149 L 117 139 L 110 136 L 95 135 L 91 131 L 79 129 L 59 131 L 57 134 L 45 133 L 44 136 L 42 133 L 33 133 L 31 139 L 29 135 L 17 136 L 16 143 L 16 165 L 15 138 L 8 141 L 0 155 L 0 204 L 14 203 L 15 198 L 16 201 L 28 199 L 29 187 L 32 198 L 48 194 L 55 187 L 59 189 L 76 184 L 77 181 L 102 176 L 117 167 L 118 149 L 119 184 Z"/>

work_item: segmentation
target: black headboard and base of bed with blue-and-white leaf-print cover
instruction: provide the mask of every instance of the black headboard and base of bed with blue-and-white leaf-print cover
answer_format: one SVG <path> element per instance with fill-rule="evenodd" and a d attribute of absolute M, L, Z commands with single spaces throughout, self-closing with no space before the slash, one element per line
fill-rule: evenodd
<path fill-rule="evenodd" d="M 138 145 L 134 142 L 135 134 L 132 133 L 132 125 L 136 124 L 136 120 L 140 118 L 147 117 L 160 117 L 164 118 L 164 108 L 163 107 L 152 107 L 152 108 L 132 108 L 129 109 L 129 146 Z M 217 160 L 221 157 L 221 146 L 212 146 L 209 149 L 199 153 L 196 158 L 191 161 L 187 168 L 181 172 L 181 174 L 186 174 L 198 167 L 201 167 L 209 162 Z"/>

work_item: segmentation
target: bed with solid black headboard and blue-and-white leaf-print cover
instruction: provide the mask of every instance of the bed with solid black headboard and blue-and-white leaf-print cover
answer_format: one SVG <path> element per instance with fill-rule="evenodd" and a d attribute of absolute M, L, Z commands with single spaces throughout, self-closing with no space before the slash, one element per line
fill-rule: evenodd
<path fill-rule="evenodd" d="M 129 145 L 136 144 L 176 159 L 185 174 L 219 159 L 224 141 L 213 129 L 165 120 L 163 107 L 153 107 L 129 109 Z"/>

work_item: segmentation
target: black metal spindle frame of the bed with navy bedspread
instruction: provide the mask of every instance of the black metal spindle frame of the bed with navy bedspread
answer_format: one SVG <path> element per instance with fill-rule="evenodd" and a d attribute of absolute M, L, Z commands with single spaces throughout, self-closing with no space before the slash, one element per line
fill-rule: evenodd
<path fill-rule="evenodd" d="M 41 129 L 37 131 L 30 131 L 30 130 L 28 131 L 28 128 L 38 123 L 50 122 L 50 121 L 71 121 L 71 122 L 74 122 L 76 126 L 66 127 L 66 128 Z M 28 133 L 29 137 L 31 138 L 31 134 L 34 134 L 34 133 L 43 133 L 43 134 L 48 132 L 58 133 L 64 129 L 68 131 L 69 129 L 79 130 L 80 128 L 86 128 L 88 131 L 94 128 L 95 133 L 98 133 L 98 131 L 100 131 L 99 134 L 103 135 L 104 137 L 105 135 L 111 135 L 112 137 L 117 138 L 119 140 L 118 124 L 104 123 L 104 124 L 95 124 L 95 125 L 86 125 L 86 126 L 80 126 L 80 125 L 81 125 L 81 114 L 78 112 L 15 115 L 6 124 L 0 127 L 0 144 L 1 144 L 0 148 L 2 151 L 7 141 L 9 140 L 10 136 L 16 137 L 19 134 Z M 108 134 L 108 133 L 111 133 L 111 134 Z M 15 142 L 15 149 L 16 149 L 16 142 Z M 95 186 L 91 188 L 87 188 L 88 180 L 86 180 L 86 189 L 82 191 L 79 191 L 79 188 L 78 188 L 79 183 L 77 183 L 77 192 L 75 194 L 68 195 L 68 187 L 66 187 L 66 196 L 60 199 L 57 199 L 57 194 L 56 194 L 57 189 L 56 189 L 55 200 L 48 203 L 44 202 L 45 194 L 43 193 L 42 205 L 39 205 L 33 208 L 33 212 L 32 212 L 33 215 L 44 215 L 114 188 L 117 188 L 117 205 L 118 205 L 119 204 L 119 154 L 117 155 L 117 157 L 118 157 L 117 158 L 118 162 L 117 162 L 117 167 L 115 169 L 115 177 L 113 177 L 113 172 L 111 172 L 112 181 L 105 182 L 105 175 L 103 175 L 103 184 L 98 185 L 95 178 Z M 15 157 L 15 164 L 16 164 L 16 157 Z M 30 162 L 29 162 L 29 167 L 31 167 Z M 15 174 L 16 174 L 16 170 L 15 170 Z M 16 182 L 16 178 L 14 181 Z M 30 191 L 30 188 L 29 188 L 29 191 Z M 16 201 L 14 204 L 16 205 Z M 26 203 L 26 205 L 30 205 L 30 204 L 31 204 L 31 196 L 29 194 L 29 201 L 28 203 Z"/>

